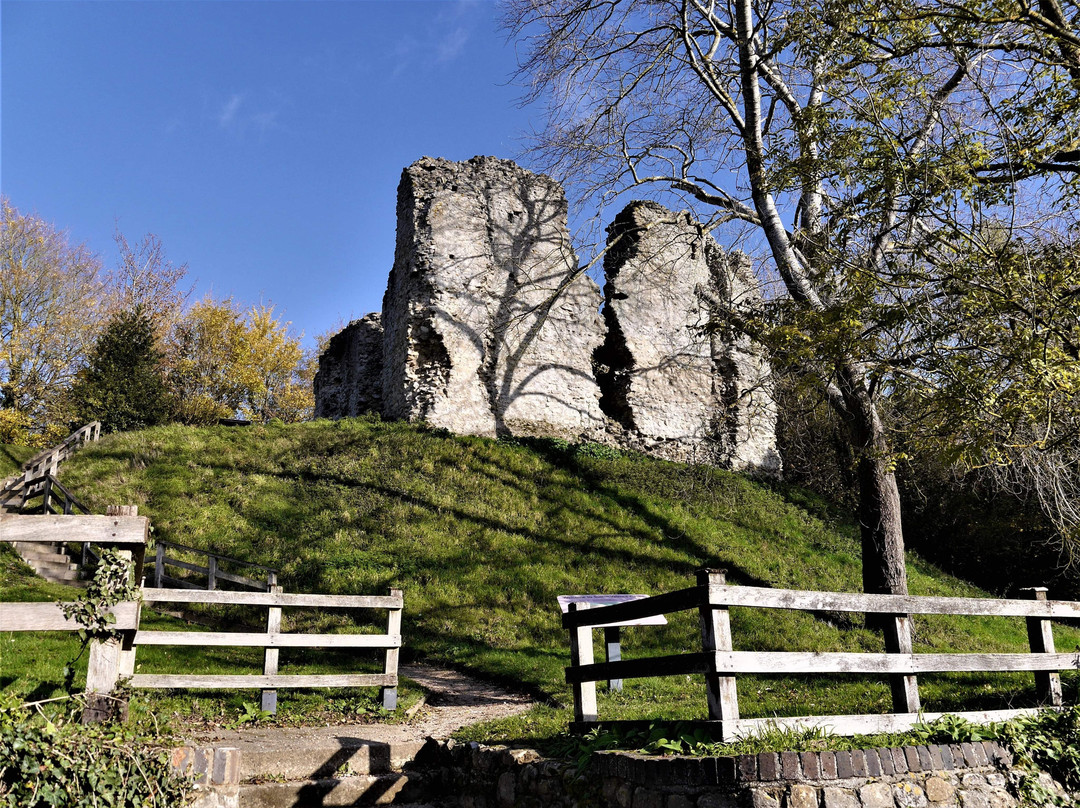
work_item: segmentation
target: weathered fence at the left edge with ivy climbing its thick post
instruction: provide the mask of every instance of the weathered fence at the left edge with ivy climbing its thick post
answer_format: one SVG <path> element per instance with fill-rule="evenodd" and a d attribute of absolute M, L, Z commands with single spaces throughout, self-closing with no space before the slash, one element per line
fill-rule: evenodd
<path fill-rule="evenodd" d="M 150 523 L 146 516 L 23 516 L 0 514 L 0 541 L 5 543 L 54 544 L 76 542 L 117 547 L 130 552 L 133 580 L 141 580 L 143 557 Z M 121 675 L 134 670 L 132 639 L 138 627 L 138 604 L 121 603 L 111 609 L 116 617 L 112 629 L 119 638 L 98 641 L 90 645 L 86 663 L 85 721 L 97 721 L 111 712 L 109 693 Z M 80 631 L 75 620 L 64 616 L 57 603 L 0 604 L 0 632 L 4 631 Z"/>

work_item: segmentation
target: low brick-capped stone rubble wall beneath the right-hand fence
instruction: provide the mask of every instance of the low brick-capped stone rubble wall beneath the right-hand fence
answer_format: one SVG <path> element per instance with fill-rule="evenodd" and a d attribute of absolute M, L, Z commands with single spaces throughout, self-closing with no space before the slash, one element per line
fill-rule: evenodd
<path fill-rule="evenodd" d="M 417 756 L 462 808 L 1015 808 L 995 742 L 738 757 L 593 755 L 584 771 L 532 750 L 429 741 Z"/>

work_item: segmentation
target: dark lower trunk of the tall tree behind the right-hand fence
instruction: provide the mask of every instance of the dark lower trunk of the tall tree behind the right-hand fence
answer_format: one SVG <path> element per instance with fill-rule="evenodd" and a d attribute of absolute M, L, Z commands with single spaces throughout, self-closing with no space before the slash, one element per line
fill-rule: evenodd
<path fill-rule="evenodd" d="M 885 427 L 861 374 L 845 368 L 840 374 L 840 390 L 846 408 L 841 415 L 858 462 L 863 591 L 906 595 L 900 490 Z"/>

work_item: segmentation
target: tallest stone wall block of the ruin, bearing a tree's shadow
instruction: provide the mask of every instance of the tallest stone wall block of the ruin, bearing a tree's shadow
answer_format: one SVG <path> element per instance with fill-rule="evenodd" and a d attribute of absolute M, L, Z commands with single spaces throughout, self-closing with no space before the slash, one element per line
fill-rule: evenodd
<path fill-rule="evenodd" d="M 397 193 L 382 301 L 384 414 L 478 435 L 603 427 L 599 291 L 579 274 L 566 197 L 496 158 L 424 158 Z"/>

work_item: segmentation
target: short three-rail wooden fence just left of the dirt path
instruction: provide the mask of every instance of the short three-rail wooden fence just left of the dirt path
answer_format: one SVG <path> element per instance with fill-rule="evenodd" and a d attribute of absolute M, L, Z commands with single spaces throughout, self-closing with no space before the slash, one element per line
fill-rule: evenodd
<path fill-rule="evenodd" d="M 140 645 L 255 647 L 264 648 L 261 674 L 163 674 L 139 673 L 132 676 L 132 687 L 139 688 L 252 688 L 262 690 L 262 709 L 278 708 L 276 688 L 285 687 L 379 687 L 382 705 L 397 704 L 397 655 L 402 637 L 402 591 L 388 595 L 306 595 L 285 594 L 281 587 L 270 592 L 192 592 L 175 589 L 144 589 L 144 603 L 200 603 L 267 608 L 267 630 L 258 633 L 208 631 L 138 631 L 134 649 Z M 386 609 L 386 634 L 299 634 L 281 631 L 283 607 L 315 609 Z M 378 673 L 301 674 L 278 673 L 281 648 L 380 648 L 386 649 L 383 670 Z"/>

